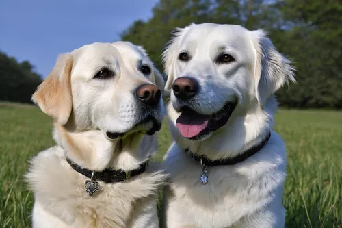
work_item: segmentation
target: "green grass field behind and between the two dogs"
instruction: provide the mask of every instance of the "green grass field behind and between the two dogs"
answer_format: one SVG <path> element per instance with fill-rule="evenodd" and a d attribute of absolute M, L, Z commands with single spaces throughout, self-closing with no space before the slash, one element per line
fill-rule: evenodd
<path fill-rule="evenodd" d="M 281 110 L 275 129 L 287 146 L 287 227 L 342 227 L 342 112 Z M 170 142 L 164 126 L 155 160 Z M 0 105 L 0 227 L 29 227 L 27 160 L 53 144 L 49 116 L 30 105 Z"/>

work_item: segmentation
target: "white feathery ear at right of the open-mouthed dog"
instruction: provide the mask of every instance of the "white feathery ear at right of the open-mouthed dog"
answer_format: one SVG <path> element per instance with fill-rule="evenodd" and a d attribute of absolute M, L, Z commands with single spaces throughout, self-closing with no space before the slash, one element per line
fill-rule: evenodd
<path fill-rule="evenodd" d="M 265 105 L 281 86 L 295 82 L 295 68 L 291 61 L 276 50 L 263 30 L 252 31 L 257 61 L 254 67 L 256 94 L 261 105 Z"/>

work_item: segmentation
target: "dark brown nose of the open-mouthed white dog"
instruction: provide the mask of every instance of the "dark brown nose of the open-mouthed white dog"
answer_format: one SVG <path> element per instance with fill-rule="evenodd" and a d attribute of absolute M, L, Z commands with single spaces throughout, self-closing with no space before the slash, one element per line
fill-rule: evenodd
<path fill-rule="evenodd" d="M 174 96 L 178 99 L 189 99 L 198 92 L 198 82 L 191 77 L 179 77 L 172 85 Z"/>

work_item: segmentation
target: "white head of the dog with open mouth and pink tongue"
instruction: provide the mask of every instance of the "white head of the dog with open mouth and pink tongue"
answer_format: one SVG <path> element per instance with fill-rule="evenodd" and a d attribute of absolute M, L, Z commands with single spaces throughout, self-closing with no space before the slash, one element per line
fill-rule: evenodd
<path fill-rule="evenodd" d="M 181 136 L 205 140 L 234 113 L 264 107 L 287 81 L 290 61 L 262 30 L 205 23 L 176 29 L 163 52 L 168 115 Z"/>

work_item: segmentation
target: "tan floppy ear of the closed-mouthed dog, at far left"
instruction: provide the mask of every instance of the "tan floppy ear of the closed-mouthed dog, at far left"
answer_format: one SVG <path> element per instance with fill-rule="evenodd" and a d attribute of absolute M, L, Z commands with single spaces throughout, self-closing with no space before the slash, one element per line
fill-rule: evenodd
<path fill-rule="evenodd" d="M 73 108 L 70 84 L 72 68 L 73 56 L 60 55 L 51 73 L 32 95 L 32 101 L 60 125 L 66 124 Z"/>

